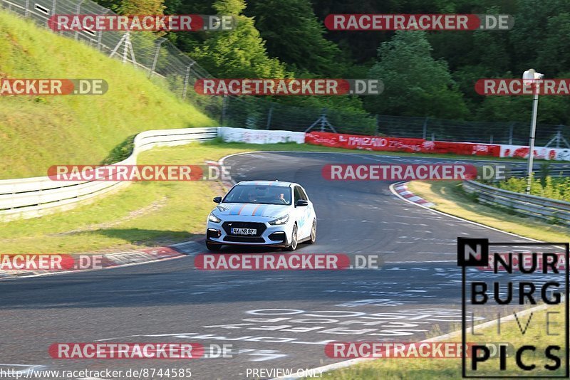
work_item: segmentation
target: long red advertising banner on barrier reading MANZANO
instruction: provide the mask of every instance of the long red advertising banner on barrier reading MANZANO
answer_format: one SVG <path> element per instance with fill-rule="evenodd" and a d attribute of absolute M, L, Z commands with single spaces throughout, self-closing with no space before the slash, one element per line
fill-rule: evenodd
<path fill-rule="evenodd" d="M 440 142 L 405 137 L 362 136 L 331 132 L 309 132 L 305 143 L 345 149 L 364 149 L 388 152 L 452 153 L 499 157 L 500 145 L 471 142 Z"/>

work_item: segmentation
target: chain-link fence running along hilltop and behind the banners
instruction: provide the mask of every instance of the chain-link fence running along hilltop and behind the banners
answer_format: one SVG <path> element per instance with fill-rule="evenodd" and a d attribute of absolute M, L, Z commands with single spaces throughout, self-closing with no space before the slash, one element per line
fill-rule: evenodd
<path fill-rule="evenodd" d="M 33 19 L 48 27 L 56 14 L 114 14 L 91 0 L 0 0 L 4 9 Z M 261 97 L 204 96 L 195 92 L 197 79 L 213 78 L 195 60 L 166 38 L 150 32 L 60 31 L 78 41 L 146 70 L 178 97 L 197 105 L 210 117 L 229 127 L 266 130 L 323 130 L 352 134 L 380 134 L 394 137 L 419 137 L 440 141 L 494 144 L 527 144 L 529 123 L 461 122 L 429 117 L 367 115 L 346 110 L 294 107 Z M 215 32 L 214 32 L 215 33 Z M 538 125 L 537 145 L 570 147 L 570 127 Z"/>

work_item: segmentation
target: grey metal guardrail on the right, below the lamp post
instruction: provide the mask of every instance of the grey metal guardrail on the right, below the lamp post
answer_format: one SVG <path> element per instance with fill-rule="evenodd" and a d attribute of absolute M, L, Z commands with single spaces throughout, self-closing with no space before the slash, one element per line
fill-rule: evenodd
<path fill-rule="evenodd" d="M 504 206 L 517 213 L 524 213 L 525 216 L 570 226 L 570 202 L 515 193 L 475 181 L 463 181 L 463 189 L 467 193 L 477 194 L 481 203 Z"/>

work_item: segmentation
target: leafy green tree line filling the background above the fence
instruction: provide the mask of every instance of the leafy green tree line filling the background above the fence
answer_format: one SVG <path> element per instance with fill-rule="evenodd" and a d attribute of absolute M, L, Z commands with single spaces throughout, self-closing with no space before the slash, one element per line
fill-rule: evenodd
<path fill-rule="evenodd" d="M 367 97 L 275 97 L 294 106 L 520 121 L 528 96 L 483 97 L 480 78 L 520 78 L 528 68 L 569 78 L 567 0 L 99 0 L 123 14 L 225 14 L 234 31 L 168 38 L 218 78 L 378 78 Z M 328 14 L 511 14 L 511 31 L 328 31 Z M 567 97 L 541 97 L 539 122 L 570 124 Z"/>

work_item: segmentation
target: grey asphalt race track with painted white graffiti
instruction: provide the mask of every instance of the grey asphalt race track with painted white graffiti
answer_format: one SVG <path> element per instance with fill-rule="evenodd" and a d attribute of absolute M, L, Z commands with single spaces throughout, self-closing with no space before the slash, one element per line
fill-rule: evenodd
<path fill-rule="evenodd" d="M 160 263 L 0 282 L 0 369 L 192 369 L 192 379 L 253 379 L 252 369 L 330 364 L 328 341 L 407 342 L 457 329 L 458 236 L 520 238 L 409 204 L 388 182 L 326 181 L 324 164 L 442 162 L 367 154 L 254 153 L 229 157 L 236 181 L 302 184 L 318 238 L 299 253 L 378 253 L 378 270 L 201 271 L 193 255 Z M 446 162 L 456 162 L 449 161 Z M 222 195 L 222 194 L 220 194 Z M 214 204 L 212 203 L 212 207 Z M 224 252 L 261 252 L 224 248 Z M 56 360 L 56 342 L 232 344 L 232 358 Z M 261 374 L 261 372 L 258 372 Z M 248 376 L 249 375 L 249 376 Z M 261 377 L 271 377 L 267 372 Z"/>

